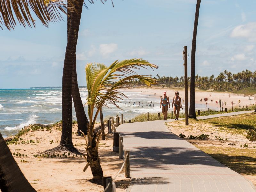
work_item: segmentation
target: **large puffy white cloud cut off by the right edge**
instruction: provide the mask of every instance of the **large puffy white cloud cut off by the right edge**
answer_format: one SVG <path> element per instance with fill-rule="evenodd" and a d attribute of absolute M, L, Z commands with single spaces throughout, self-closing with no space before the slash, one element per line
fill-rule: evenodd
<path fill-rule="evenodd" d="M 246 38 L 250 42 L 256 42 L 256 22 L 236 26 L 231 37 Z"/>

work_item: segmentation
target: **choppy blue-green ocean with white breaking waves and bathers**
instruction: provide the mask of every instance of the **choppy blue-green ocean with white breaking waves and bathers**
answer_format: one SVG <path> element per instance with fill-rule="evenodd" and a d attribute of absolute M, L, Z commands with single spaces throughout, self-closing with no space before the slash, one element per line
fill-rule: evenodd
<path fill-rule="evenodd" d="M 88 96 L 87 88 L 80 88 L 80 95 L 84 103 L 84 110 L 87 115 L 88 108 L 86 98 Z M 103 117 L 124 114 L 124 119 L 131 119 L 142 113 L 161 112 L 159 108 L 159 96 L 141 94 L 136 92 L 123 92 L 127 97 L 120 100 L 118 109 L 112 104 L 103 107 Z M 0 89 L 0 132 L 3 137 L 15 135 L 18 130 L 29 124 L 53 124 L 62 119 L 62 89 Z M 135 104 L 134 104 L 135 102 Z M 140 105 L 139 105 L 140 102 Z M 172 100 L 170 100 L 170 103 Z M 134 105 L 133 105 L 134 104 Z M 152 105 L 152 107 L 149 106 Z M 153 107 L 153 105 L 156 105 Z M 143 107 L 142 107 L 143 106 Z M 76 114 L 73 108 L 73 119 L 76 120 Z M 196 106 L 200 109 L 202 106 Z M 172 109 L 172 108 L 170 108 Z M 183 109 L 185 105 L 183 103 Z M 171 110 L 170 110 L 171 111 Z M 182 112 L 182 110 L 181 110 Z M 100 121 L 98 115 L 97 121 Z"/>

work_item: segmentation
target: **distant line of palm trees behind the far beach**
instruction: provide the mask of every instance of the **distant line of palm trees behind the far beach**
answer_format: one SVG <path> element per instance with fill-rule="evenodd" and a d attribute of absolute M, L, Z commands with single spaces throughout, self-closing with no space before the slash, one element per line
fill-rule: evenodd
<path fill-rule="evenodd" d="M 151 76 L 152 77 L 152 76 Z M 156 77 L 153 79 L 158 80 L 158 85 L 155 86 L 164 86 L 164 87 L 184 87 L 185 81 L 184 76 L 179 77 L 165 77 L 159 76 L 156 74 Z M 141 86 L 144 85 L 141 81 L 130 81 L 129 86 Z M 188 77 L 188 86 L 190 86 L 190 77 Z M 237 74 L 228 72 L 225 70 L 221 72 L 217 77 L 214 75 L 195 76 L 195 87 L 199 89 L 214 89 L 220 91 L 233 91 L 240 90 L 247 87 L 256 87 L 256 71 L 252 72 L 250 70 L 245 70 Z"/>

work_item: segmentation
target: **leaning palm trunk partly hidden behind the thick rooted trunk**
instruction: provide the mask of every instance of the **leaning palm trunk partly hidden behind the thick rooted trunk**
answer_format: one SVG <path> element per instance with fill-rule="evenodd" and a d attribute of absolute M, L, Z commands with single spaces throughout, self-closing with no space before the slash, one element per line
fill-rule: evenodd
<path fill-rule="evenodd" d="M 68 1 L 68 6 L 69 6 L 69 1 Z M 71 15 L 72 15 L 72 13 L 68 9 L 67 10 L 67 37 L 68 37 L 68 33 L 69 33 Z M 78 16 L 78 15 L 76 14 L 74 16 Z M 84 134 L 87 134 L 87 123 L 89 123 L 89 122 L 88 122 L 88 119 L 87 119 L 85 111 L 84 111 L 84 106 L 83 106 L 83 102 L 81 100 L 78 83 L 77 83 L 76 53 L 74 54 L 74 58 L 73 58 L 72 98 L 73 98 L 73 102 L 74 102 L 77 124 L 78 124 L 77 133 L 78 133 L 78 135 L 81 135 L 81 132 L 79 132 L 81 130 L 82 132 L 84 132 Z"/>

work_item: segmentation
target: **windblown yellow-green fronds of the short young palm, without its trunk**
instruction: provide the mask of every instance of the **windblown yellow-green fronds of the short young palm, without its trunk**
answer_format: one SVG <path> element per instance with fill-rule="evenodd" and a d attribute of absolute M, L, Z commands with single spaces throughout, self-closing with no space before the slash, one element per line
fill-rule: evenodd
<path fill-rule="evenodd" d="M 94 106 L 99 110 L 101 106 L 106 106 L 106 101 L 117 106 L 116 103 L 119 102 L 118 100 L 126 97 L 120 89 L 125 88 L 126 84 L 131 80 L 138 79 L 148 86 L 157 84 L 155 79 L 147 75 L 134 74 L 134 70 L 146 67 L 158 68 L 158 66 L 142 59 L 116 60 L 109 67 L 99 63 L 87 64 L 85 71 L 88 89 L 87 104 L 89 116 L 92 114 Z M 111 82 L 114 82 L 114 84 L 110 84 Z M 96 116 L 98 114 L 97 112 Z M 96 120 L 96 116 L 93 122 Z"/>

